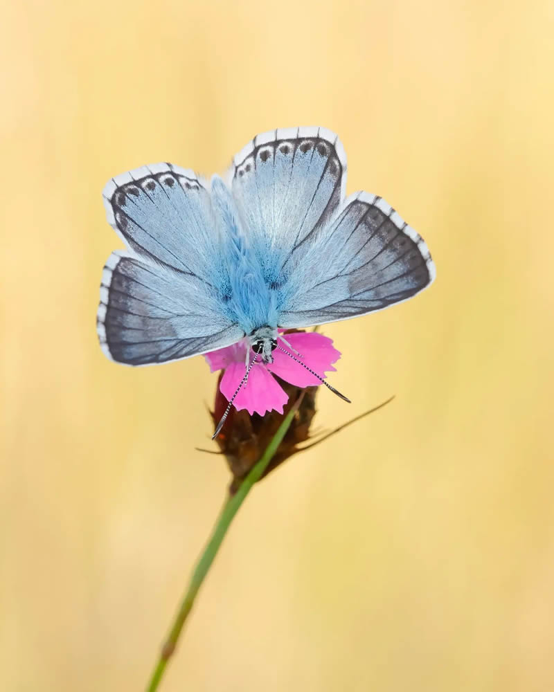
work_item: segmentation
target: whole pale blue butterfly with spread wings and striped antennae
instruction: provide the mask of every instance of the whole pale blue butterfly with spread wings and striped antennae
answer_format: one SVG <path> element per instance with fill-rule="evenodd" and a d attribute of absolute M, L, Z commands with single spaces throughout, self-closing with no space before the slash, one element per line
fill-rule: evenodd
<path fill-rule="evenodd" d="M 245 339 L 242 386 L 258 357 L 283 350 L 278 329 L 365 315 L 429 286 L 420 235 L 382 197 L 345 190 L 346 154 L 323 127 L 259 134 L 210 181 L 170 163 L 115 176 L 102 194 L 127 249 L 102 273 L 102 350 L 150 365 Z"/>

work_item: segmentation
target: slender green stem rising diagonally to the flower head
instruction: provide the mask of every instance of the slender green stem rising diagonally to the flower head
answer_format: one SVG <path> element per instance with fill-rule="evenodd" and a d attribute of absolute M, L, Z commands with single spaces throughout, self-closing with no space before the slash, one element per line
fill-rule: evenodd
<path fill-rule="evenodd" d="M 242 502 L 244 502 L 244 498 L 246 498 L 248 493 L 251 491 L 253 484 L 260 480 L 269 462 L 271 461 L 271 457 L 273 457 L 273 455 L 276 453 L 278 446 L 281 444 L 281 441 L 283 441 L 283 437 L 285 437 L 287 434 L 287 430 L 292 423 L 292 419 L 294 418 L 302 399 L 303 394 L 298 397 L 292 408 L 285 416 L 283 423 L 280 424 L 260 461 L 256 462 L 253 468 L 251 468 L 250 473 L 242 481 L 235 495 L 229 498 L 229 500 L 227 500 L 224 504 L 220 516 L 217 519 L 217 522 L 215 522 L 215 527 L 213 528 L 211 538 L 208 540 L 208 543 L 206 544 L 206 547 L 199 558 L 193 572 L 193 576 L 190 578 L 190 583 L 188 585 L 188 589 L 186 590 L 184 599 L 181 601 L 179 610 L 175 615 L 168 638 L 166 639 L 166 643 L 163 645 L 161 650 L 157 666 L 154 668 L 154 673 L 152 673 L 150 683 L 146 688 L 148 692 L 156 692 L 158 689 L 161 678 L 163 677 L 163 673 L 168 665 L 168 661 L 172 653 L 175 651 L 175 646 L 177 646 L 177 640 L 179 639 L 181 630 L 183 629 L 190 610 L 193 608 L 197 593 L 202 586 L 204 579 L 206 579 L 206 574 L 208 574 L 208 570 L 210 569 L 213 560 L 217 555 L 217 551 L 220 549 L 225 534 L 227 533 L 231 522 L 235 518 L 235 514 L 238 512 L 240 505 Z"/>

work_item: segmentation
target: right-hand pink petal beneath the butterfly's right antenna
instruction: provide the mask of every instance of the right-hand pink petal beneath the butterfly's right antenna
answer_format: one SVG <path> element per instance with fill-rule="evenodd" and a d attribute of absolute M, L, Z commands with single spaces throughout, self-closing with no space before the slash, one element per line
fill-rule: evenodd
<path fill-rule="evenodd" d="M 298 334 L 285 334 L 285 339 L 298 353 L 303 356 L 300 358 L 295 353 L 292 353 L 294 358 L 298 358 L 307 367 L 316 372 L 319 376 L 325 377 L 325 372 L 335 370 L 331 363 L 335 363 L 341 357 L 341 352 L 332 347 L 332 339 L 323 334 L 317 334 L 314 331 Z M 290 349 L 283 340 L 279 339 L 280 347 L 285 351 Z M 290 356 L 283 353 L 279 349 L 273 352 L 274 362 L 267 367 L 271 372 L 274 372 L 283 380 L 296 385 L 297 387 L 308 387 L 310 385 L 319 385 L 319 379 L 310 374 L 305 367 L 296 363 Z"/>

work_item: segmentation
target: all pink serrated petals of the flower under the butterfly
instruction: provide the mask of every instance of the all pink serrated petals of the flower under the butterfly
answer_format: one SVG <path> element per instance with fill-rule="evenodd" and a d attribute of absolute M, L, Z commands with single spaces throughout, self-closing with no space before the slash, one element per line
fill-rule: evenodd
<path fill-rule="evenodd" d="M 285 334 L 285 338 L 302 357 L 293 355 L 300 358 L 307 367 L 310 367 L 319 376 L 325 377 L 325 372 L 335 370 L 332 363 L 339 360 L 341 353 L 332 347 L 332 339 L 328 336 L 310 331 Z M 282 339 L 278 339 L 278 345 L 288 352 L 291 351 Z M 244 377 L 247 348 L 249 348 L 249 344 L 246 339 L 243 339 L 232 346 L 217 349 L 217 351 L 204 355 L 211 372 L 225 371 L 220 383 L 220 391 L 227 401 L 231 399 Z M 250 349 L 249 358 L 253 358 L 253 356 L 254 352 Z M 254 412 L 264 415 L 271 410 L 283 413 L 283 405 L 287 402 L 288 397 L 274 379 L 274 374 L 297 387 L 321 384 L 319 379 L 310 374 L 305 367 L 296 363 L 279 349 L 273 352 L 273 357 L 273 363 L 254 363 L 246 385 L 242 387 L 233 401 L 233 405 L 238 411 L 245 408 L 250 415 Z"/>

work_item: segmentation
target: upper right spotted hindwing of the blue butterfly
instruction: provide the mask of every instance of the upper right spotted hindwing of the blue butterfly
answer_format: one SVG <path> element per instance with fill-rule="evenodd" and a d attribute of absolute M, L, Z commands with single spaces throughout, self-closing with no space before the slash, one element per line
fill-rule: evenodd
<path fill-rule="evenodd" d="M 323 127 L 271 130 L 235 156 L 231 186 L 271 280 L 288 252 L 339 208 L 346 189 L 346 154 L 337 135 Z"/>

